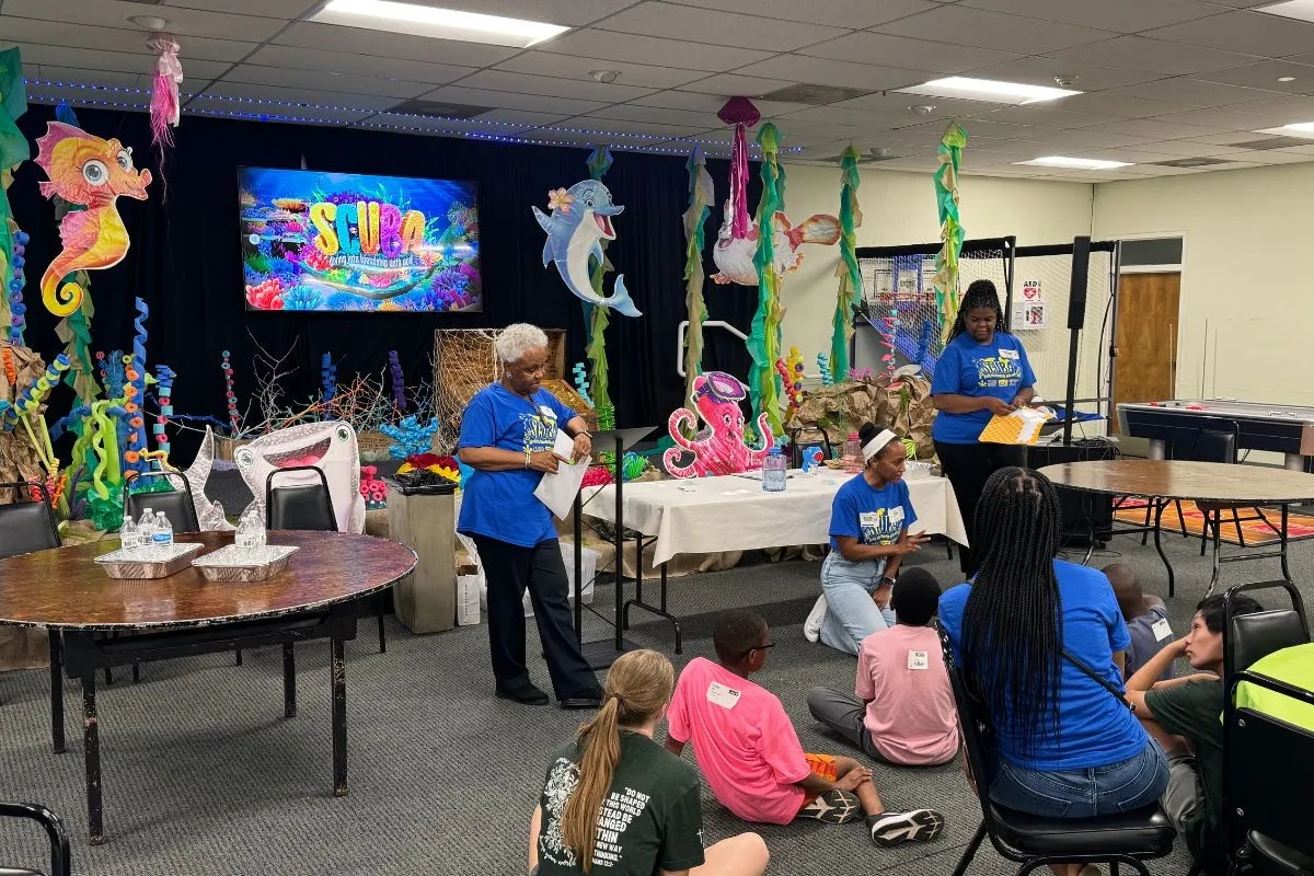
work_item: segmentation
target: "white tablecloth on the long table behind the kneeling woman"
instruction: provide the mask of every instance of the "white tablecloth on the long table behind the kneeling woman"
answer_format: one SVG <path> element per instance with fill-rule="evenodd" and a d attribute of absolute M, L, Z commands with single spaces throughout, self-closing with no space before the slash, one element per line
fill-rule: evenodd
<path fill-rule="evenodd" d="M 845 473 L 790 473 L 784 493 L 767 493 L 746 477 L 689 478 L 627 483 L 625 528 L 654 536 L 653 565 L 683 553 L 813 545 L 830 540 L 830 502 L 854 477 Z M 586 487 L 585 514 L 615 523 L 614 486 Z M 967 544 L 954 487 L 945 478 L 908 479 L 917 523 L 912 531 Z"/>

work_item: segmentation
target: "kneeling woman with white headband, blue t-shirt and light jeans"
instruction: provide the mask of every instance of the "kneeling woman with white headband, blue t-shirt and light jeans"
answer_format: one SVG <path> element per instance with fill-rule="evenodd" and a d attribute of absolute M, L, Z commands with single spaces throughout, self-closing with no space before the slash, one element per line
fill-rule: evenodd
<path fill-rule="evenodd" d="M 862 640 L 894 624 L 890 590 L 905 554 L 926 537 L 909 536 L 917 512 L 903 481 L 903 441 L 866 423 L 862 474 L 834 494 L 830 506 L 830 553 L 821 566 L 821 599 L 812 609 L 821 619 L 821 641 L 849 654 Z M 816 620 L 813 620 L 813 624 Z"/>

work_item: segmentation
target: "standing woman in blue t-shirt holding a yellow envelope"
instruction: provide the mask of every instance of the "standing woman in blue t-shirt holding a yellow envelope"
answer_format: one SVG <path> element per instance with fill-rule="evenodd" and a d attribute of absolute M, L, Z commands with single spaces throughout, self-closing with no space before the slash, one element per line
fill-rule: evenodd
<path fill-rule="evenodd" d="M 959 552 L 964 575 L 976 571 L 972 515 L 986 478 L 1007 465 L 1026 464 L 1024 448 L 984 444 L 980 433 L 991 416 L 1005 416 L 1030 405 L 1034 385 L 1031 362 L 1022 343 L 1008 331 L 995 284 L 972 282 L 958 306 L 958 318 L 930 382 L 937 411 L 930 436 L 967 527 L 970 546 Z"/>

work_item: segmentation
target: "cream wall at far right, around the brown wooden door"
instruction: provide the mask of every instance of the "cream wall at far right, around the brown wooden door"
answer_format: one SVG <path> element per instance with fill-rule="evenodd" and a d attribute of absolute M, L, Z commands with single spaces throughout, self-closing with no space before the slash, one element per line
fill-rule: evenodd
<path fill-rule="evenodd" d="M 1314 405 L 1311 192 L 1314 164 L 1096 186 L 1096 235 L 1184 238 L 1177 397 Z"/>

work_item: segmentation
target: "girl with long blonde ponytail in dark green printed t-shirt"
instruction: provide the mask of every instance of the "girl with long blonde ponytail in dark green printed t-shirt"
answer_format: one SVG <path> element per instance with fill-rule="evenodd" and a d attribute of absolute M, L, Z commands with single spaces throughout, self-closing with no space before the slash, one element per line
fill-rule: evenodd
<path fill-rule="evenodd" d="M 548 767 L 530 825 L 530 871 L 582 876 L 761 876 L 766 844 L 740 834 L 702 846 L 698 771 L 653 741 L 675 670 L 662 654 L 623 654 L 598 714 Z"/>

